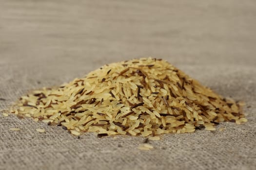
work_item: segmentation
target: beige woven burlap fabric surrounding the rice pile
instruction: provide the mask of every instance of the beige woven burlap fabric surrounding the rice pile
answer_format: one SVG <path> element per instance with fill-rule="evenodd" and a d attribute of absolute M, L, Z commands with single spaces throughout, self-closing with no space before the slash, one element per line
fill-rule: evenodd
<path fill-rule="evenodd" d="M 164 135 L 150 141 L 154 150 L 140 151 L 142 137 L 77 139 L 1 115 L 0 170 L 255 170 L 255 0 L 0 0 L 0 109 L 30 89 L 141 56 L 166 59 L 244 100 L 248 123 Z"/>

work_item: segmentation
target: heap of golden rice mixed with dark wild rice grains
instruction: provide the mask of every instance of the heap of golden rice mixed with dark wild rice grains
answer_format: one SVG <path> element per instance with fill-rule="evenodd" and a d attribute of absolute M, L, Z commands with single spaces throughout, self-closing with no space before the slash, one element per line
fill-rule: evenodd
<path fill-rule="evenodd" d="M 57 88 L 20 98 L 11 112 L 72 134 L 98 136 L 215 130 L 221 121 L 246 122 L 243 102 L 226 99 L 161 59 L 112 63 Z"/>

